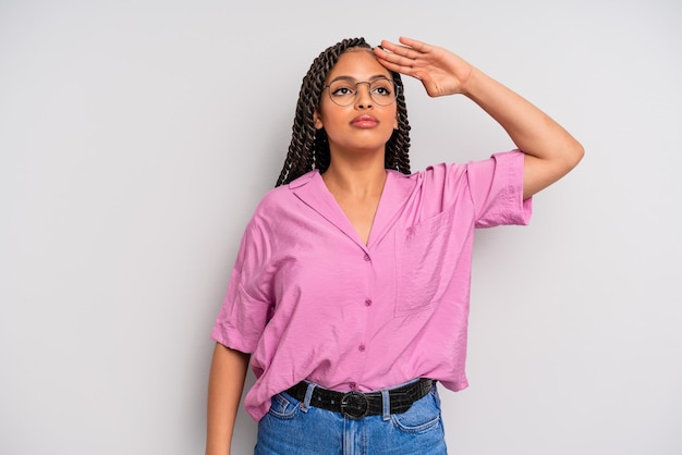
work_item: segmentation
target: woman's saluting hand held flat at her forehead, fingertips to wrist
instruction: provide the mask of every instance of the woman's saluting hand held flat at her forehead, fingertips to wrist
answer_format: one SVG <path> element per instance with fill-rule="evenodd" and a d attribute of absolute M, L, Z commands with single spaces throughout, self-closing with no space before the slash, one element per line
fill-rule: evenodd
<path fill-rule="evenodd" d="M 390 71 L 415 77 L 430 97 L 465 91 L 474 67 L 460 57 L 438 46 L 405 37 L 401 45 L 388 40 L 374 49 L 379 63 Z"/>

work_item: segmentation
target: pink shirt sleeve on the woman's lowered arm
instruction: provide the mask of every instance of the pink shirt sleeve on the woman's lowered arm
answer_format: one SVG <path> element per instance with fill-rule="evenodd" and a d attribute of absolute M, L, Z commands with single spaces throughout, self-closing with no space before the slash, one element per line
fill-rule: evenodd
<path fill-rule="evenodd" d="M 270 255 L 266 239 L 263 229 L 252 220 L 242 237 L 228 291 L 211 332 L 216 342 L 243 353 L 256 349 L 270 316 Z"/>

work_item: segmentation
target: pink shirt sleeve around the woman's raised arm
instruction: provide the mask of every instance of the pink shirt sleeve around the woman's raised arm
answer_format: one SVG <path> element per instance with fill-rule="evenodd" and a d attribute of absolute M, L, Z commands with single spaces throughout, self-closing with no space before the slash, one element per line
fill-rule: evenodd
<path fill-rule="evenodd" d="M 524 153 L 512 150 L 467 164 L 476 228 L 528 224 L 533 200 L 523 199 L 523 162 Z"/>

